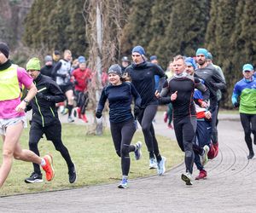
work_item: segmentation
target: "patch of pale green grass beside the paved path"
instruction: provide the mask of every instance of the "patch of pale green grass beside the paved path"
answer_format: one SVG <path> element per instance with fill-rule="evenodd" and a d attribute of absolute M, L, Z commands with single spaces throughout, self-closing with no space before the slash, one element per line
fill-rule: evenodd
<path fill-rule="evenodd" d="M 183 153 L 177 147 L 176 141 L 157 136 L 160 153 L 166 157 L 166 169 L 183 160 Z M 67 175 L 67 164 L 61 154 L 55 151 L 51 141 L 41 139 L 38 143 L 40 154 L 52 153 L 54 157 L 55 178 L 53 181 L 26 184 L 24 179 L 31 175 L 32 164 L 15 160 L 7 181 L 0 189 L 0 196 L 20 193 L 36 193 L 60 190 L 74 187 L 85 187 L 103 183 L 119 182 L 121 178 L 120 159 L 116 155 L 109 130 L 104 135 L 86 135 L 86 126 L 77 124 L 62 124 L 62 139 L 67 146 L 73 162 L 76 164 L 78 181 L 70 184 Z M 21 136 L 21 147 L 28 148 L 28 129 Z M 133 141 L 143 141 L 143 134 L 139 131 Z M 2 151 L 2 147 L 1 150 Z M 0 164 L 2 158 L 0 159 Z M 44 174 L 44 170 L 43 170 Z M 143 142 L 143 158 L 136 161 L 131 153 L 130 179 L 152 176 L 156 170 L 148 170 L 148 151 Z"/>

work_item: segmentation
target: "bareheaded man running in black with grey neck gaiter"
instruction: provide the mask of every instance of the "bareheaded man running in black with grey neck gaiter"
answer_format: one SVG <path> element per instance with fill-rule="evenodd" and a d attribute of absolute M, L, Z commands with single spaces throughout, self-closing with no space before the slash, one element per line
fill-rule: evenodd
<path fill-rule="evenodd" d="M 193 140 L 196 130 L 196 113 L 193 101 L 194 89 L 200 89 L 204 101 L 209 98 L 207 88 L 198 78 L 189 76 L 185 71 L 185 61 L 182 55 L 177 55 L 173 60 L 174 76 L 169 80 L 167 87 L 162 89 L 162 101 L 169 103 L 172 101 L 173 124 L 178 146 L 185 153 L 184 161 L 186 172 L 181 178 L 186 185 L 192 185 L 192 173 L 194 164 Z M 166 95 L 171 95 L 167 96 Z M 166 98 L 163 98 L 166 97 Z M 207 103 L 202 101 L 201 106 L 207 107 Z"/>

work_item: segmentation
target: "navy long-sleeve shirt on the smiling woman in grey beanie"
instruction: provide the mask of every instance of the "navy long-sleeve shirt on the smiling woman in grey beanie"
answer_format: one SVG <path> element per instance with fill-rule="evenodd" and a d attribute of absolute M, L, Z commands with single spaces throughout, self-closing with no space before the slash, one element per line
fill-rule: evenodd
<path fill-rule="evenodd" d="M 131 101 L 134 97 L 135 106 L 141 106 L 141 96 L 131 83 L 119 85 L 109 84 L 102 89 L 102 95 L 97 106 L 97 112 L 102 112 L 108 99 L 109 121 L 111 123 L 124 122 L 133 118 L 131 113 Z"/>

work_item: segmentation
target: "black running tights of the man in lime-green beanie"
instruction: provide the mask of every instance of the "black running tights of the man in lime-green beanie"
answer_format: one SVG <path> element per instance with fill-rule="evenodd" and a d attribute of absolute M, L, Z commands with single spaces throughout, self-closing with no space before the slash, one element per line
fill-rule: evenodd
<path fill-rule="evenodd" d="M 42 125 L 32 122 L 31 129 L 29 131 L 29 149 L 36 153 L 39 156 L 38 150 L 38 142 L 46 135 L 48 141 L 52 141 L 55 150 L 61 153 L 61 156 L 65 159 L 67 163 L 68 170 L 73 168 L 73 162 L 68 153 L 67 147 L 61 141 L 61 123 L 59 120 L 55 120 L 53 124 L 50 124 L 46 127 L 42 127 Z M 41 174 L 40 166 L 38 164 L 33 164 L 34 172 L 37 174 Z"/>

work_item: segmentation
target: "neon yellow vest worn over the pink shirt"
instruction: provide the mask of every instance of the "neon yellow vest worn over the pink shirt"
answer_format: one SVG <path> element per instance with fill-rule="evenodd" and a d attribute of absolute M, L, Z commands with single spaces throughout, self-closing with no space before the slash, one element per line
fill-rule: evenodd
<path fill-rule="evenodd" d="M 18 66 L 12 65 L 0 71 L 0 101 L 16 99 L 19 96 Z"/>

